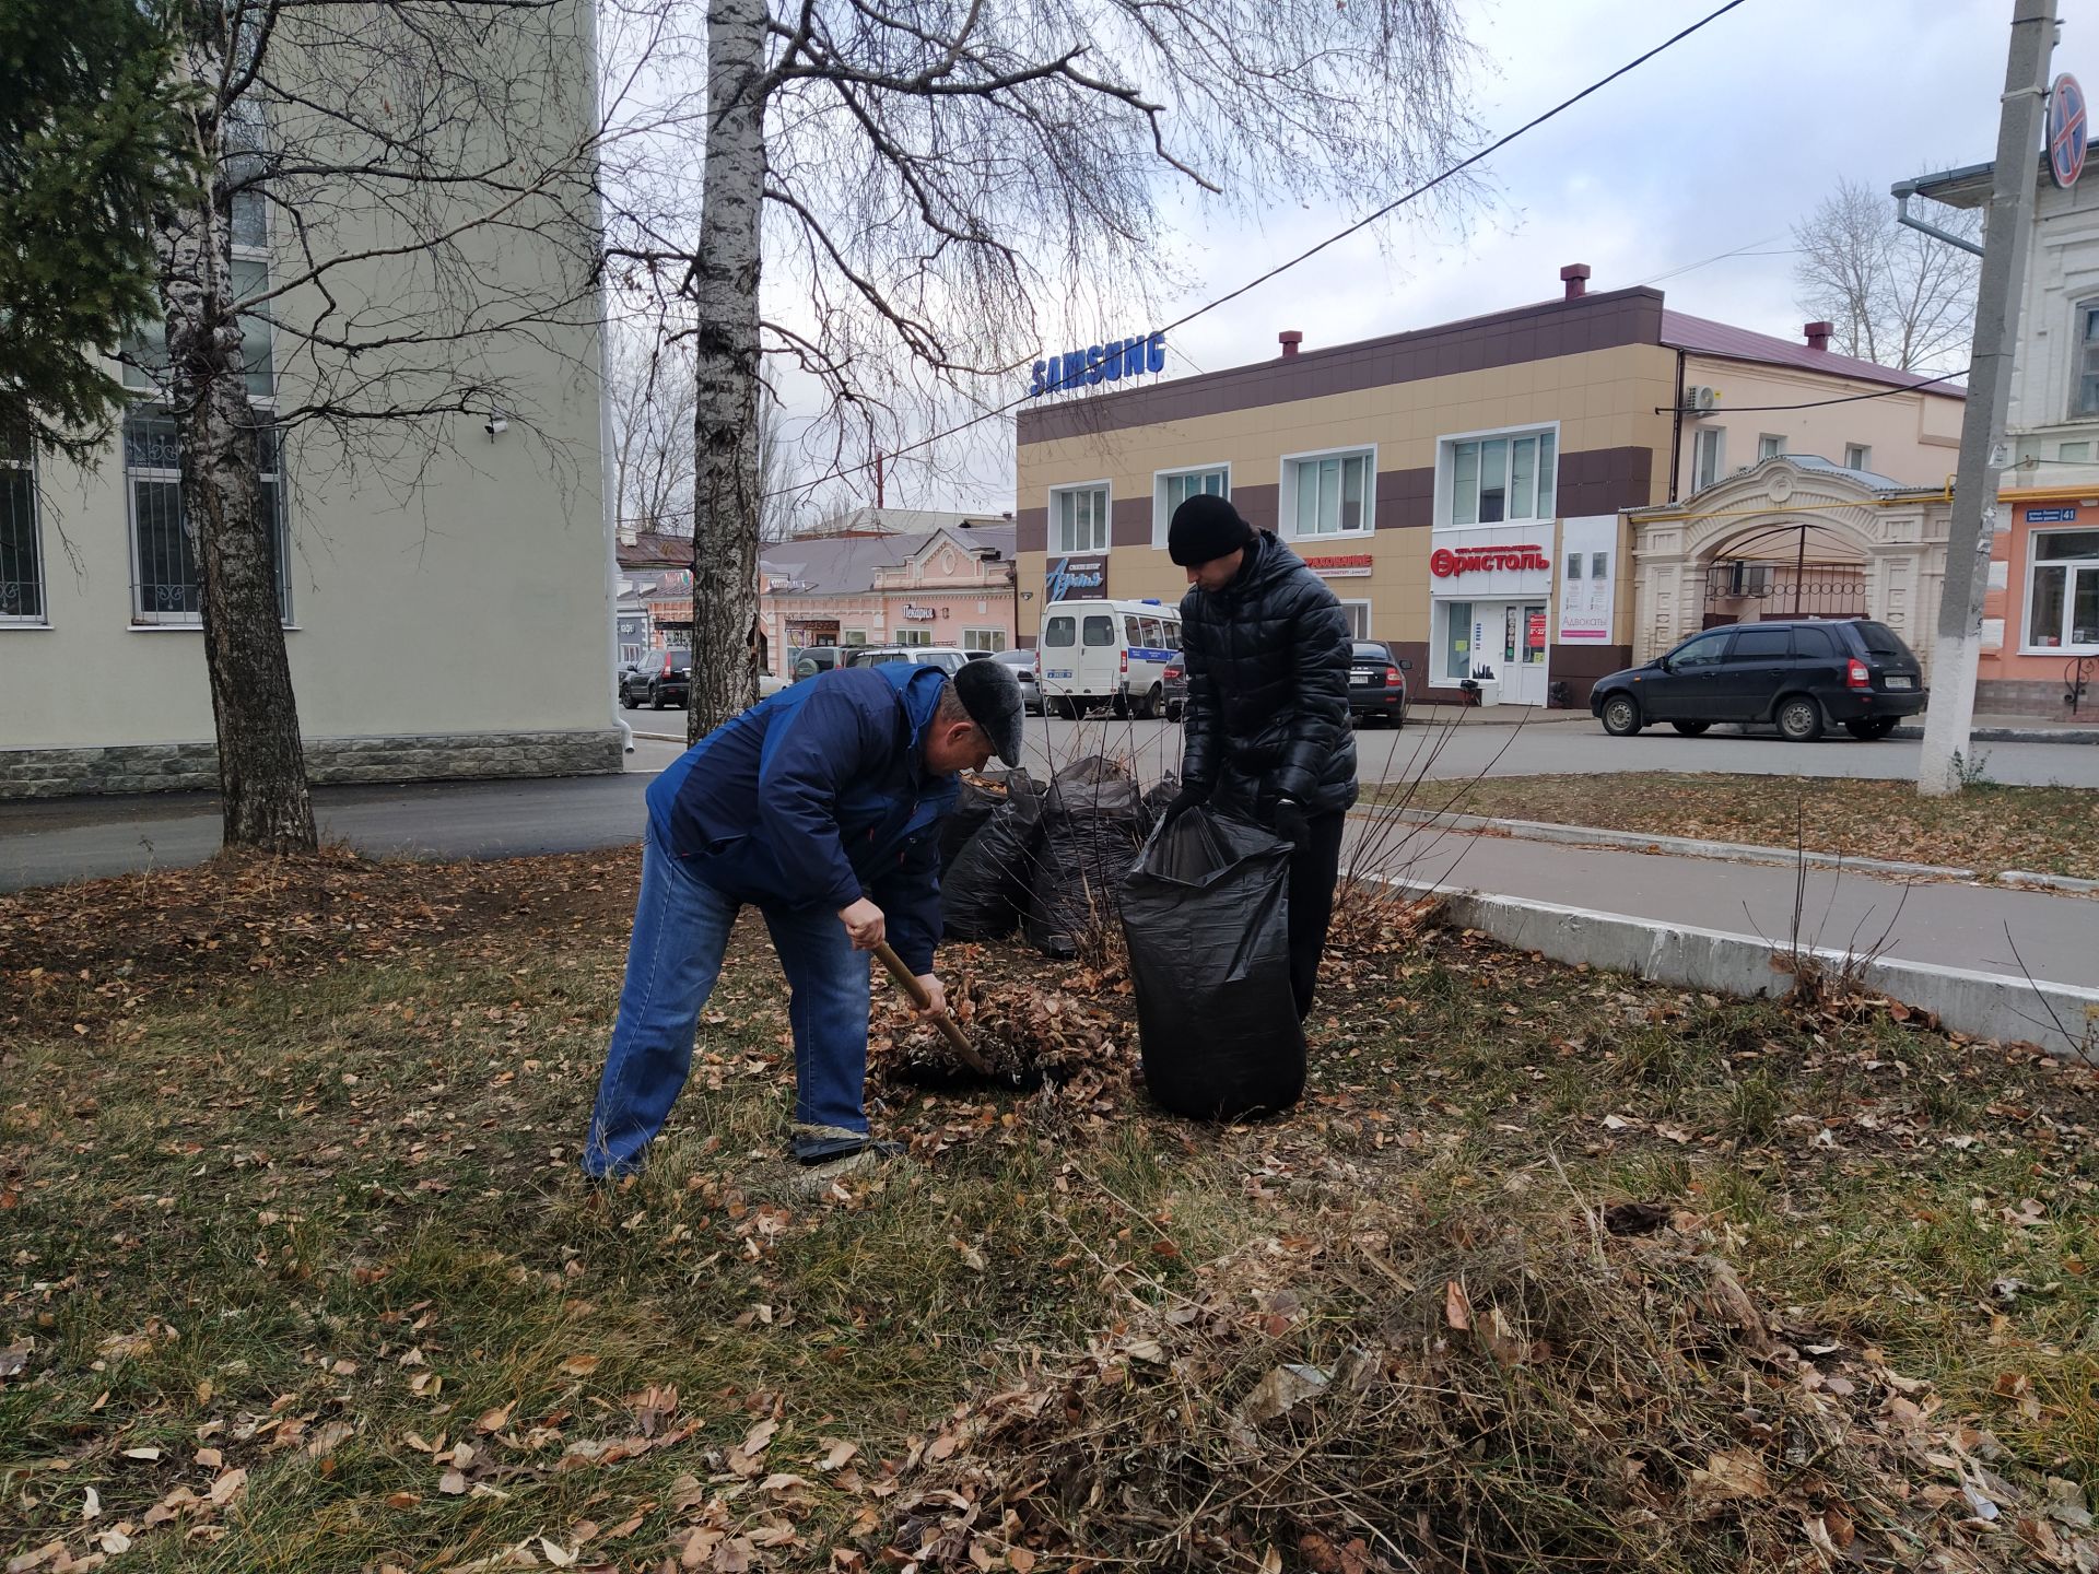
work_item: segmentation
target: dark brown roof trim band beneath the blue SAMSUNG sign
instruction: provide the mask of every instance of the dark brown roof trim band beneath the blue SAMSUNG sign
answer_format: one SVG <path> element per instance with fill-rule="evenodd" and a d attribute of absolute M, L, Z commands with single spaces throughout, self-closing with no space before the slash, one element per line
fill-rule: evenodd
<path fill-rule="evenodd" d="M 1020 443 L 1050 443 L 1127 426 L 1287 405 L 1299 399 L 1385 388 L 1398 382 L 1551 361 L 1620 344 L 1662 342 L 1662 292 L 1637 285 L 1576 300 L 1541 300 L 1406 334 L 1301 350 L 1293 357 L 1175 378 L 1148 388 L 1087 395 L 1022 409 Z"/>

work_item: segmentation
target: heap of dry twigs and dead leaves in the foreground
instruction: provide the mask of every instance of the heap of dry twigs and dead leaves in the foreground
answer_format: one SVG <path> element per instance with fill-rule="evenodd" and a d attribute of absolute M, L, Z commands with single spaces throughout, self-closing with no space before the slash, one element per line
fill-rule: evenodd
<path fill-rule="evenodd" d="M 2011 1477 L 1925 1383 L 1759 1307 L 1658 1217 L 1354 1209 L 1259 1240 L 963 1408 L 892 1547 L 919 1568 L 968 1568 L 982 1534 L 1029 1561 L 1316 1574 L 2099 1568 L 2082 1488 Z"/>

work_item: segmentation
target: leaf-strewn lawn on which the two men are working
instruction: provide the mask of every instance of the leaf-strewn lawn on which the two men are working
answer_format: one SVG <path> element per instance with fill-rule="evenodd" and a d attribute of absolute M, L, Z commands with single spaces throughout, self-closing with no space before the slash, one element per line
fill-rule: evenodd
<path fill-rule="evenodd" d="M 1089 1058 L 808 1196 L 754 928 L 598 1192 L 636 877 L 0 898 L 8 1570 L 2099 1566 L 2091 1068 L 1358 915 L 1220 1131 L 955 949 Z"/>

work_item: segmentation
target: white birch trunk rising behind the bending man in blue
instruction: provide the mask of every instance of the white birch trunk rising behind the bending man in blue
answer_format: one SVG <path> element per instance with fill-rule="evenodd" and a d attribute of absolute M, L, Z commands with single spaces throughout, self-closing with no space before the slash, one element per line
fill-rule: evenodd
<path fill-rule="evenodd" d="M 686 741 L 758 701 L 758 275 L 766 0 L 707 4 L 707 162 L 693 304 L 693 697 Z"/>

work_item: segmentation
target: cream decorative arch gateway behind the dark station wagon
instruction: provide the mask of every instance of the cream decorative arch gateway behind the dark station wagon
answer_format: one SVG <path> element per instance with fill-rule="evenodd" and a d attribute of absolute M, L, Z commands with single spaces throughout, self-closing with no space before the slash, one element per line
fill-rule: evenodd
<path fill-rule="evenodd" d="M 1627 510 L 1633 659 L 1715 623 L 1872 617 L 1929 676 L 1950 514 L 1939 487 L 1786 455 L 1683 502 Z"/>

